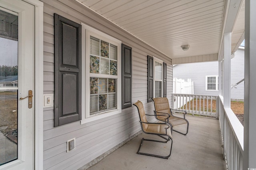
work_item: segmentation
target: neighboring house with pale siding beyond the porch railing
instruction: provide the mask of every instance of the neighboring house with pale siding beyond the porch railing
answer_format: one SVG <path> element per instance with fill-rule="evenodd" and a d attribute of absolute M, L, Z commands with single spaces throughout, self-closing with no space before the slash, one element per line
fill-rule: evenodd
<path fill-rule="evenodd" d="M 218 62 L 177 64 L 173 78 L 191 79 L 194 94 L 218 95 Z M 231 86 L 244 78 L 244 47 L 231 59 Z M 231 89 L 231 100 L 244 100 L 244 81 Z"/>

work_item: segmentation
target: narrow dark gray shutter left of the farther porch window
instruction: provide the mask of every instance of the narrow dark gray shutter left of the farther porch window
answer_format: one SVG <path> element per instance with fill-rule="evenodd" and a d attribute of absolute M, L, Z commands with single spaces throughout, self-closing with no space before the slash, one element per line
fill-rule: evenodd
<path fill-rule="evenodd" d="M 153 57 L 150 57 L 148 55 L 148 102 L 152 102 L 152 98 L 153 98 L 153 93 L 154 93 L 154 89 L 153 89 L 153 81 L 154 81 L 154 77 L 153 77 Z"/>

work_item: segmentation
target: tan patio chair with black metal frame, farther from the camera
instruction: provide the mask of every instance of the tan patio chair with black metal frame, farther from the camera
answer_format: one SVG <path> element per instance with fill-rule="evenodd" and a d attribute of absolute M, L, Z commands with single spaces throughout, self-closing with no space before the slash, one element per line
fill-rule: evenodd
<path fill-rule="evenodd" d="M 171 126 L 171 129 L 173 131 L 181 133 L 182 135 L 187 135 L 188 125 L 189 125 L 188 120 L 185 118 L 185 115 L 187 114 L 187 112 L 182 111 L 182 110 L 171 109 L 167 98 L 152 98 L 152 99 L 153 99 L 154 105 L 155 105 L 154 114 L 155 114 L 156 119 L 158 119 L 160 121 L 164 121 L 166 123 L 169 123 Z M 172 114 L 173 112 L 183 113 L 184 118 L 174 116 Z M 187 124 L 186 133 L 182 133 L 180 131 L 173 129 L 173 127 L 175 127 L 177 125 L 182 125 L 182 124 Z"/>

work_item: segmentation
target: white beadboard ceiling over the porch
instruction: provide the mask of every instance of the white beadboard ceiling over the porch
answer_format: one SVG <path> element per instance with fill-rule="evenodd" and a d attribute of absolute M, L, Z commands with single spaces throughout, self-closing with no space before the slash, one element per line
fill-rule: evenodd
<path fill-rule="evenodd" d="M 79 1 L 170 58 L 219 52 L 225 0 Z M 244 32 L 242 21 L 237 23 L 232 50 Z M 181 45 L 190 47 L 182 51 Z"/>

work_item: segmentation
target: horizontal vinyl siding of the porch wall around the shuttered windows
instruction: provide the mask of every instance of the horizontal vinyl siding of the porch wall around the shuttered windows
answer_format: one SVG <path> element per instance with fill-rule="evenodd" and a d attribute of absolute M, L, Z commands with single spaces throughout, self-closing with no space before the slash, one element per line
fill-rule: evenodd
<path fill-rule="evenodd" d="M 77 23 L 86 23 L 132 47 L 132 103 L 142 101 L 146 113 L 154 104 L 147 103 L 147 55 L 167 63 L 167 97 L 172 103 L 172 60 L 129 33 L 109 23 L 78 3 L 42 0 L 44 3 L 44 94 L 54 93 L 54 20 L 58 13 Z M 71 7 L 69 7 L 71 6 Z M 90 50 L 90 49 L 88 49 Z M 87 101 L 87 100 L 86 100 Z M 95 116 L 96 117 L 96 116 Z M 154 117 L 148 121 L 153 121 Z M 136 107 L 85 124 L 80 121 L 53 127 L 53 107 L 44 108 L 44 170 L 78 169 L 141 131 Z M 76 138 L 76 149 L 66 152 L 67 140 Z"/>

